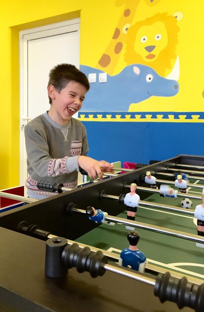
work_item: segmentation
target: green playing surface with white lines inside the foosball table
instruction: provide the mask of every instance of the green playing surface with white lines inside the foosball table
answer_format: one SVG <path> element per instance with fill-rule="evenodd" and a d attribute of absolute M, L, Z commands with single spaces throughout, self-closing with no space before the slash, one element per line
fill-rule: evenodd
<path fill-rule="evenodd" d="M 192 180 L 190 183 L 203 184 L 202 181 L 198 180 Z M 202 191 L 202 188 L 192 187 L 188 189 L 188 193 L 191 195 L 201 195 Z M 188 198 L 188 194 L 186 197 Z M 149 196 L 146 201 L 181 207 L 182 198 L 160 197 L 158 193 L 155 193 Z M 192 199 L 192 202 L 191 209 L 194 210 L 196 205 L 201 203 L 201 200 Z M 100 209 L 100 207 L 95 208 Z M 103 210 L 105 211 L 105 209 Z M 125 205 L 124 212 L 118 217 L 127 219 Z M 170 212 L 161 208 L 140 205 L 137 208 L 136 221 L 197 235 L 194 216 L 180 212 Z M 90 220 L 90 222 L 93 221 Z M 140 235 L 138 248 L 144 252 L 148 263 L 204 279 L 204 244 L 144 229 L 136 230 Z M 76 241 L 118 254 L 123 248 L 128 247 L 128 232 L 129 230 L 122 224 L 116 223 L 114 226 L 102 224 Z"/>

